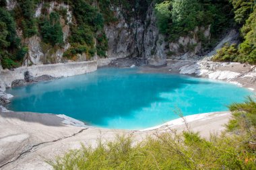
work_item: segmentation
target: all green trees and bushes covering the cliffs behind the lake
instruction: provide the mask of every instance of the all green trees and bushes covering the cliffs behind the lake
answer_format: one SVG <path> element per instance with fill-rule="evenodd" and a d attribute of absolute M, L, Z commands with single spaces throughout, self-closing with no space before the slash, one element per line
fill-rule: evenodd
<path fill-rule="evenodd" d="M 36 7 L 41 0 L 18 0 L 15 7 L 7 10 L 7 2 L 0 1 L 0 59 L 3 68 L 20 66 L 28 47 L 22 39 L 40 36 L 44 46 L 63 46 L 61 19 L 69 24 L 70 48 L 63 57 L 72 59 L 75 54 L 86 52 L 88 57 L 98 54 L 106 56 L 108 40 L 104 26 L 115 24 L 113 7 L 120 7 L 125 20 L 131 18 L 145 20 L 146 11 L 154 3 L 157 25 L 172 42 L 179 36 L 189 35 L 197 26 L 211 26 L 210 40 L 199 32 L 204 50 L 210 50 L 230 28 L 239 29 L 241 44 L 226 44 L 214 60 L 256 62 L 255 50 L 255 1 L 254 0 L 57 0 L 71 7 L 73 22 L 67 21 L 67 9 L 60 8 L 48 12 L 51 1 L 43 1 L 40 17 L 35 17 Z M 146 22 L 146 21 L 145 21 Z M 18 31 L 22 36 L 18 36 Z M 190 48 L 193 48 L 191 46 Z M 171 52 L 170 52 L 171 53 Z"/>

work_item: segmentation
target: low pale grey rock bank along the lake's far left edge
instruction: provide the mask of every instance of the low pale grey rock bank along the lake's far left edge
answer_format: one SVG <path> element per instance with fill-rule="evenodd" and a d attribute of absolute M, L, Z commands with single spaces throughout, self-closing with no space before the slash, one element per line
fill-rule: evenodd
<path fill-rule="evenodd" d="M 55 65 L 36 65 L 19 67 L 13 71 L 4 70 L 0 73 L 5 87 L 26 85 L 36 81 L 51 79 L 51 77 L 69 77 L 83 75 L 97 70 L 96 61 L 68 62 Z M 46 76 L 48 75 L 48 76 Z"/>

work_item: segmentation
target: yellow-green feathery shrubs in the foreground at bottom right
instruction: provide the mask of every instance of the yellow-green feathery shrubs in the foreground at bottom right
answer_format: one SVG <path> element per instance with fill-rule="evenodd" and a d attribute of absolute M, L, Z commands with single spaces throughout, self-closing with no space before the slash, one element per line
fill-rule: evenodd
<path fill-rule="evenodd" d="M 54 169 L 256 169 L 256 102 L 230 105 L 233 118 L 209 140 L 196 132 L 175 130 L 134 144 L 131 136 L 82 146 L 49 161 Z"/>

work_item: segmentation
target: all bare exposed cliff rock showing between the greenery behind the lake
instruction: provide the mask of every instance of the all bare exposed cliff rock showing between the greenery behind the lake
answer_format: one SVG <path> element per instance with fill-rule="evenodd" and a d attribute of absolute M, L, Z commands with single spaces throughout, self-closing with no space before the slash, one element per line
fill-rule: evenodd
<path fill-rule="evenodd" d="M 44 3 L 42 1 L 36 6 L 34 17 L 38 18 L 42 15 Z M 7 9 L 13 9 L 16 4 L 15 0 L 8 0 Z M 75 24 L 75 17 L 73 17 L 72 9 L 69 5 L 59 1 L 49 1 L 48 13 L 58 9 L 65 9 L 66 11 L 65 18 L 61 16 L 60 19 L 64 40 L 62 46 L 44 44 L 37 35 L 24 39 L 22 38 L 22 31 L 18 28 L 18 36 L 22 38 L 23 44 L 28 46 L 28 54 L 25 56 L 24 66 L 55 64 L 65 61 L 63 54 L 71 46 L 68 42 L 69 24 Z M 106 52 L 108 58 L 141 58 L 143 64 L 166 65 L 166 58 L 188 59 L 200 52 L 202 42 L 199 40 L 199 33 L 206 40 L 211 37 L 210 26 L 197 27 L 188 36 L 180 37 L 177 42 L 166 42 L 166 37 L 160 34 L 156 26 L 154 2 L 146 7 L 143 14 L 139 14 L 143 16 L 136 14 L 130 16 L 129 19 L 125 17 L 123 13 L 125 10 L 122 7 L 113 6 L 111 9 L 115 13 L 117 22 L 105 24 L 104 26 L 104 32 L 108 38 L 108 50 Z M 135 10 L 135 13 L 139 13 L 136 11 L 137 9 L 133 10 Z M 77 54 L 76 58 L 77 61 L 88 60 L 86 54 Z M 98 56 L 93 58 L 98 59 Z"/>

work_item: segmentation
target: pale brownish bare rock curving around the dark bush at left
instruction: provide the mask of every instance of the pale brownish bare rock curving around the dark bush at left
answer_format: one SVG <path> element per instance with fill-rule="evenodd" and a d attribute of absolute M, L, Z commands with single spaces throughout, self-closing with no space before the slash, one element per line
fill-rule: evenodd
<path fill-rule="evenodd" d="M 40 17 L 43 3 L 40 3 L 35 10 L 34 17 Z M 30 38 L 23 39 L 22 33 L 18 34 L 23 40 L 23 44 L 28 46 L 28 54 L 23 62 L 24 66 L 28 65 L 42 65 L 42 64 L 55 64 L 62 62 L 63 54 L 65 50 L 70 47 L 69 42 L 67 42 L 67 37 L 69 36 L 69 24 L 72 23 L 72 13 L 69 5 L 64 3 L 58 3 L 57 1 L 51 1 L 48 13 L 53 10 L 66 9 L 67 17 L 61 17 L 61 27 L 63 32 L 63 42 L 62 46 L 51 46 L 49 44 L 44 44 L 40 37 L 37 35 Z M 67 21 L 67 22 L 66 22 Z M 86 57 L 81 58 L 78 61 L 86 60 Z"/>

